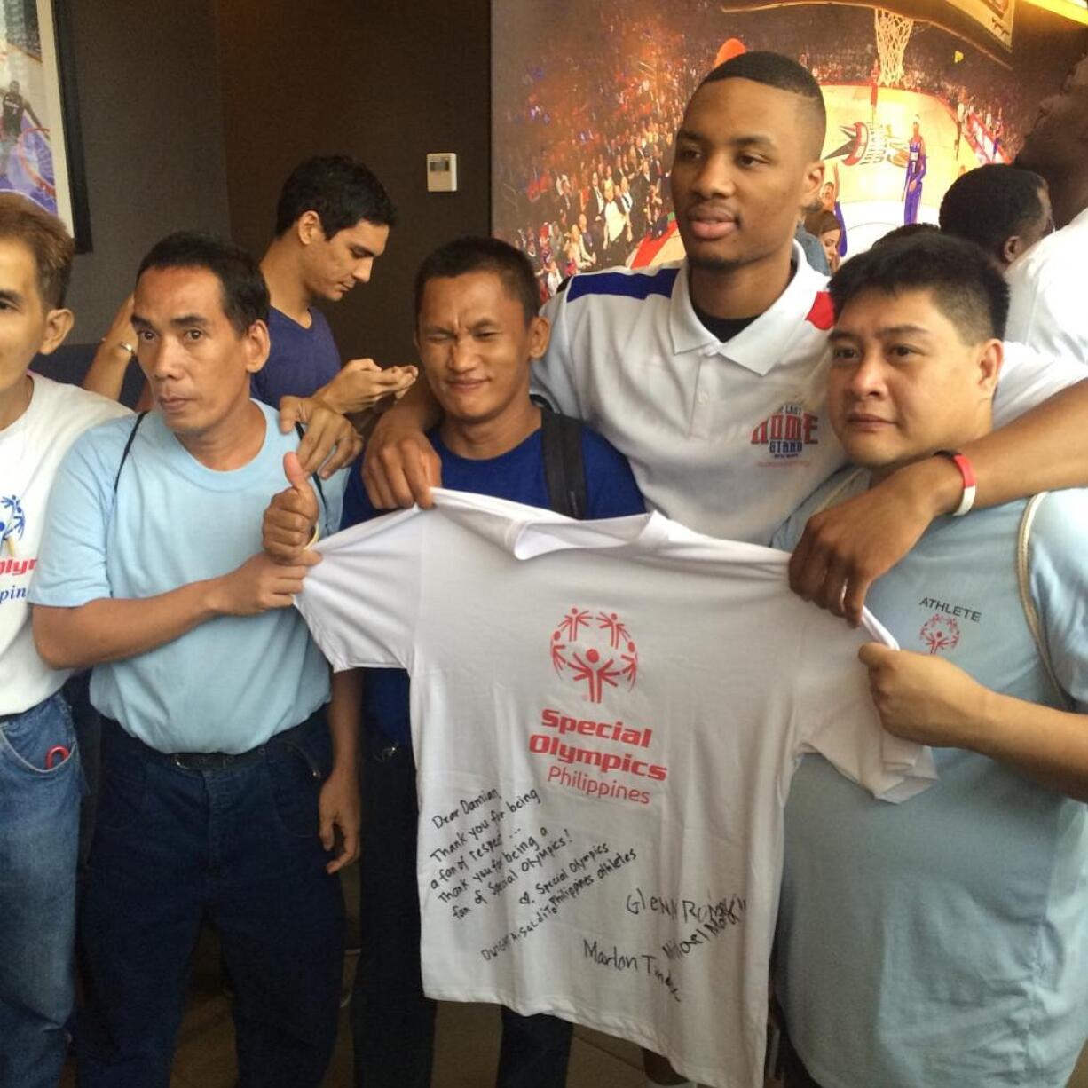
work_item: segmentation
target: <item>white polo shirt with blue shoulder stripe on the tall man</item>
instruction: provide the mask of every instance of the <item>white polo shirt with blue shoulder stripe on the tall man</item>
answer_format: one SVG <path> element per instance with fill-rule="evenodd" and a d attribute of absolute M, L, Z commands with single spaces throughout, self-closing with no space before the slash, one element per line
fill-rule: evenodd
<path fill-rule="evenodd" d="M 827 280 L 796 270 L 766 312 L 718 341 L 696 317 L 687 261 L 574 276 L 548 301 L 534 391 L 631 462 L 647 504 L 710 536 L 767 544 L 846 459 L 825 412 Z M 1009 346 L 1000 425 L 1083 368 Z"/>

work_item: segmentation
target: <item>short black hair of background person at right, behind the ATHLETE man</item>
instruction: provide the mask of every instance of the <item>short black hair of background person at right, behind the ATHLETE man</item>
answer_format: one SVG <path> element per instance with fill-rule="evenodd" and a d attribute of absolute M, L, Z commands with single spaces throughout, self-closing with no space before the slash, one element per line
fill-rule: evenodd
<path fill-rule="evenodd" d="M 998 162 L 970 170 L 944 194 L 941 230 L 1003 260 L 1005 243 L 1042 218 L 1043 184 L 1030 170 Z"/>

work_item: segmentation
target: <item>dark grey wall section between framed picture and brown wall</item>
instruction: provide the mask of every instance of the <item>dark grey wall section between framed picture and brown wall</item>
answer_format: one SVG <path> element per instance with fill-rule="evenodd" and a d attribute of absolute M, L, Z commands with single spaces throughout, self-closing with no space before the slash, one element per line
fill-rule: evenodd
<path fill-rule="evenodd" d="M 228 230 L 213 0 L 69 0 L 92 249 L 73 342 L 99 339 L 162 235 Z"/>

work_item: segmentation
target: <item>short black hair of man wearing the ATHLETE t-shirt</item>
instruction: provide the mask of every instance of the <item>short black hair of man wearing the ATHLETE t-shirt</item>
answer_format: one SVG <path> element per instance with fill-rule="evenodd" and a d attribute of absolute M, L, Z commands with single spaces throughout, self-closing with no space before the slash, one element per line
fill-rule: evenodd
<path fill-rule="evenodd" d="M 965 344 L 1005 335 L 1009 285 L 997 262 L 973 242 L 938 231 L 881 239 L 846 261 L 831 276 L 828 290 L 836 320 L 848 302 L 866 292 L 928 290 Z"/>

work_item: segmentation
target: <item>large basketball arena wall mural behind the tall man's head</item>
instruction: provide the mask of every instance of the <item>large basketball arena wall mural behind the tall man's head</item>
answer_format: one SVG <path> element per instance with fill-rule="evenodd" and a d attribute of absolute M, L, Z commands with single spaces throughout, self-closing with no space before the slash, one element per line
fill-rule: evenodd
<path fill-rule="evenodd" d="M 1030 0 L 493 0 L 494 232 L 529 255 L 542 298 L 578 271 L 681 257 L 668 171 L 684 104 L 720 60 L 771 49 L 823 88 L 824 208 L 857 252 L 936 222 L 965 171 L 1012 161 L 1088 47 L 1084 0 L 1067 10 L 1081 20 Z"/>

